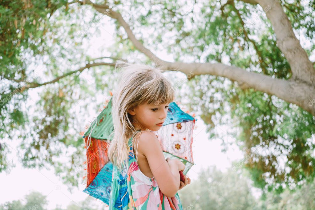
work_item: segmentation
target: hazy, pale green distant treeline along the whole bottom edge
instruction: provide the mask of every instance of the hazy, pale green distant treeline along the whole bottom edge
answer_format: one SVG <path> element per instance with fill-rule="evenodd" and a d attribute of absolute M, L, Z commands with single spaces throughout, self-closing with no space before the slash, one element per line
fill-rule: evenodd
<path fill-rule="evenodd" d="M 179 191 L 182 206 L 186 210 L 311 210 L 315 208 L 315 186 L 305 185 L 291 192 L 284 190 L 277 194 L 268 192 L 261 196 L 253 196 L 253 188 L 247 170 L 234 171 L 229 168 L 222 173 L 216 167 L 204 168 L 197 181 L 188 184 Z M 89 196 L 80 203 L 72 202 L 66 208 L 56 207 L 53 210 L 98 210 Z M 6 202 L 0 210 L 46 210 L 46 196 L 38 192 L 30 192 L 25 199 Z M 58 206 L 58 205 L 57 205 Z"/>

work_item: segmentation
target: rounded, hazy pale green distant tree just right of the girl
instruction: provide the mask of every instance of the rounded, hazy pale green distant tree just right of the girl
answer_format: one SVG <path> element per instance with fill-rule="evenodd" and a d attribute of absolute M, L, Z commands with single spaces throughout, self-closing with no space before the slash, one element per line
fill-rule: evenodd
<path fill-rule="evenodd" d="M 201 169 L 197 180 L 179 190 L 184 209 L 256 209 L 249 178 L 229 168 L 222 173 L 215 166 Z"/>

